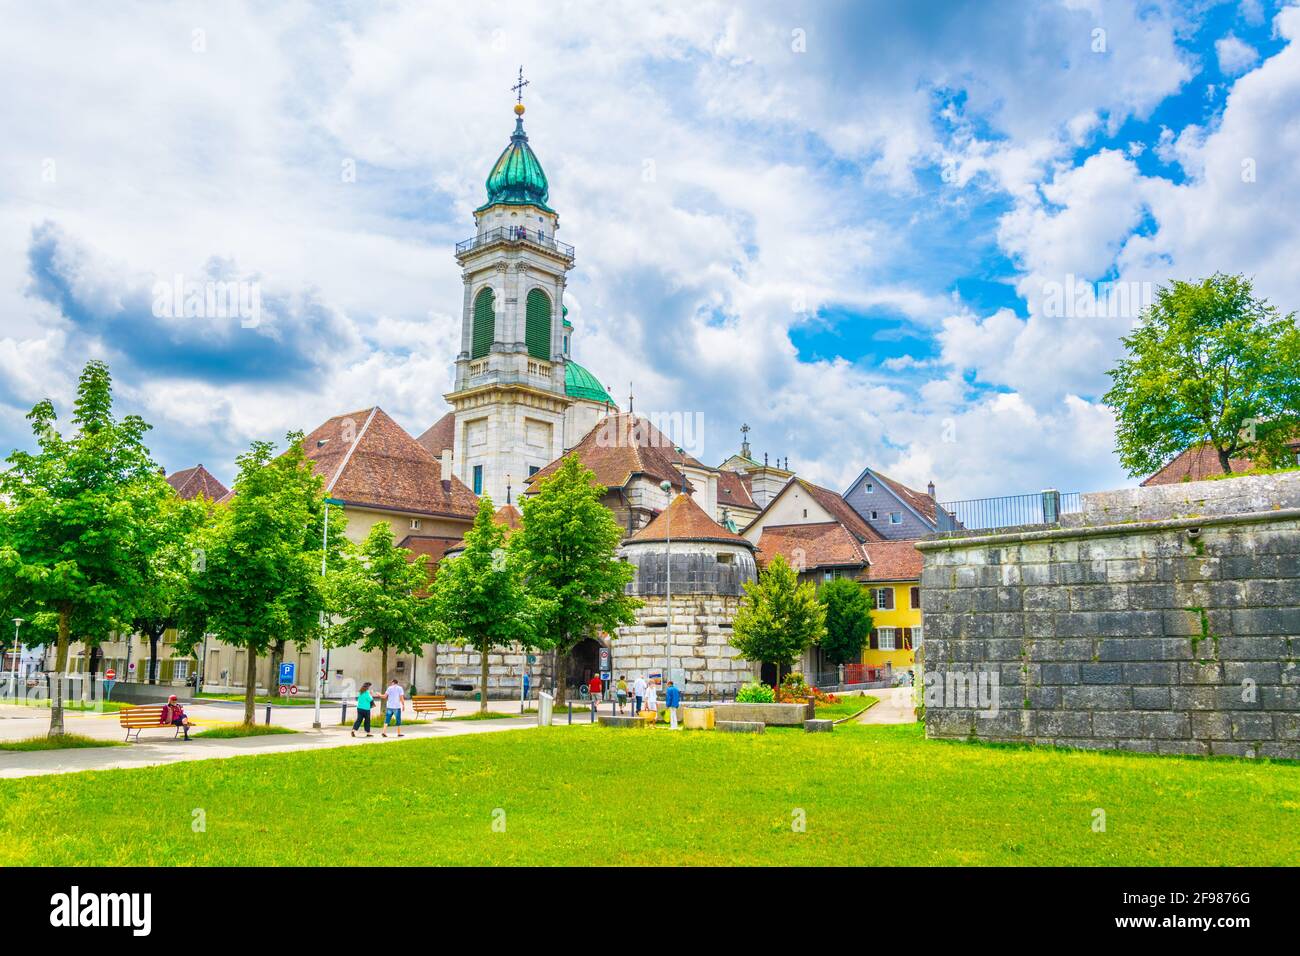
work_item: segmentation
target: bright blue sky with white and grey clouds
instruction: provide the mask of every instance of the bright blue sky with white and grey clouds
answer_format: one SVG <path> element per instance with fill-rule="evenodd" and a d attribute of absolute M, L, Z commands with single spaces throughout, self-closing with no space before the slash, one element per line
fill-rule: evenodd
<path fill-rule="evenodd" d="M 1135 316 L 1052 290 L 1300 300 L 1280 3 L 60 7 L 0 34 L 5 449 L 91 356 L 169 471 L 374 403 L 422 431 L 520 62 L 573 354 L 703 414 L 706 459 L 749 423 L 840 490 L 1128 484 L 1100 395 Z M 176 276 L 255 286 L 260 321 L 157 315 Z"/>

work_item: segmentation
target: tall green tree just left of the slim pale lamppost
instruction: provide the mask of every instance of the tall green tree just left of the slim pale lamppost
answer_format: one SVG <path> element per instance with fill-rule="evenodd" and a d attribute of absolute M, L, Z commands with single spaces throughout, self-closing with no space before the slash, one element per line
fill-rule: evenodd
<path fill-rule="evenodd" d="M 277 640 L 306 643 L 318 633 L 325 600 L 321 584 L 324 481 L 303 451 L 302 433 L 276 455 L 255 441 L 237 459 L 230 503 L 195 538 L 194 558 L 177 618 L 182 653 L 211 633 L 247 654 L 246 726 L 254 723 L 257 657 Z M 343 516 L 330 516 L 329 550 L 341 546 Z M 274 678 L 274 675 L 272 675 Z"/>

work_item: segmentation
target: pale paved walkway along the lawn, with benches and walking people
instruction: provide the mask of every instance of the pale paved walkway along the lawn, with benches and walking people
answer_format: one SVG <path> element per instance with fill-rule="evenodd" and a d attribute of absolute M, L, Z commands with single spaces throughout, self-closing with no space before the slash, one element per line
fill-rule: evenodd
<path fill-rule="evenodd" d="M 497 704 L 497 701 L 493 701 Z M 452 701 L 458 713 L 477 710 L 473 701 Z M 519 706 L 516 702 L 515 708 Z M 504 706 L 499 708 L 504 710 Z M 358 734 L 351 736 L 350 727 L 337 726 L 339 722 L 339 705 L 334 704 L 328 709 L 321 708 L 322 730 L 312 730 L 313 708 L 283 706 L 272 709 L 272 723 L 292 727 L 299 734 L 269 735 L 261 737 L 238 737 L 233 740 L 204 740 L 195 737 L 190 741 L 176 740 L 165 731 L 146 731 L 139 743 L 126 747 L 92 747 L 73 750 L 0 750 L 0 778 L 39 777 L 43 774 L 68 774 L 81 770 L 112 770 L 122 767 L 159 766 L 162 763 L 178 763 L 190 760 L 221 760 L 225 757 L 243 757 L 259 753 L 287 753 L 291 750 L 317 750 L 330 747 L 370 747 L 377 744 L 396 744 L 399 739 L 394 731 L 389 730 L 389 736 L 382 737 L 381 722 L 372 722 L 373 736 L 365 737 Z M 194 704 L 186 708 L 196 723 L 204 727 L 213 724 L 230 724 L 243 717 L 243 706 L 226 706 L 220 704 Z M 348 717 L 354 717 L 355 710 L 348 708 Z M 410 710 L 406 714 L 411 718 Z M 584 713 L 585 717 L 585 713 Z M 265 706 L 257 708 L 257 722 L 265 719 Z M 65 711 L 65 727 L 69 734 L 82 734 L 84 736 L 103 740 L 121 741 L 124 731 L 118 727 L 117 714 L 73 714 Z M 575 713 L 575 722 L 577 714 Z M 556 724 L 562 721 L 556 719 Z M 424 724 L 413 724 L 403 728 L 400 740 L 420 740 L 441 736 L 462 736 L 465 734 L 490 734 L 503 730 L 521 730 L 536 726 L 536 717 L 500 719 L 500 721 L 448 721 L 433 718 Z M 586 726 L 586 721 L 581 726 Z M 0 705 L 0 740 L 25 740 L 27 737 L 44 735 L 49 730 L 49 711 L 46 709 Z"/>

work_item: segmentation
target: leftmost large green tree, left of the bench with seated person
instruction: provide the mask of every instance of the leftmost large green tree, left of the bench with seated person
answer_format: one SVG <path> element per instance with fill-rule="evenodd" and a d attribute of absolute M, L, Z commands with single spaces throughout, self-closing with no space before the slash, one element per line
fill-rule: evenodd
<path fill-rule="evenodd" d="M 36 451 L 14 451 L 0 472 L 0 593 L 56 615 L 49 736 L 64 734 L 62 678 L 75 632 L 87 646 L 125 630 L 144 605 L 151 567 L 170 525 L 172 488 L 144 445 L 150 425 L 113 415 L 108 365 L 88 362 L 72 425 L 61 434 L 53 402 L 29 414 Z"/>

